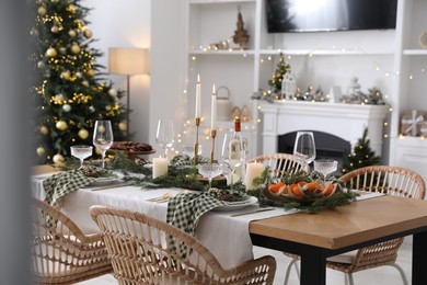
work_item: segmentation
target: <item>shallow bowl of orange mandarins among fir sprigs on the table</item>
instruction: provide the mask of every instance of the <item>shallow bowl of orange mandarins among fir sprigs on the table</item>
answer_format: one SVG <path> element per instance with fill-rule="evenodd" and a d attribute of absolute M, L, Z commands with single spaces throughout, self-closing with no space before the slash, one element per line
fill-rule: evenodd
<path fill-rule="evenodd" d="M 290 185 L 285 184 L 277 193 L 272 192 L 267 186 L 263 189 L 263 194 L 268 200 L 277 200 L 280 202 L 312 203 L 343 190 L 341 184 L 333 182 L 320 183 L 319 185 L 320 187 L 309 190 L 308 184 L 302 186 L 295 184 L 292 190 Z"/>

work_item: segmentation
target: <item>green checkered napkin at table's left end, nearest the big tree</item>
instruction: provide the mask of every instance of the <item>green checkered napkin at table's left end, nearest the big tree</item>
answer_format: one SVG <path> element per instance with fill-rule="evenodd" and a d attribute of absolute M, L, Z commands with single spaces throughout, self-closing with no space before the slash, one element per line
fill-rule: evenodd
<path fill-rule="evenodd" d="M 95 178 L 84 175 L 81 169 L 56 173 L 43 181 L 43 187 L 46 193 L 45 202 L 51 206 L 59 207 L 62 196 L 95 181 Z"/>

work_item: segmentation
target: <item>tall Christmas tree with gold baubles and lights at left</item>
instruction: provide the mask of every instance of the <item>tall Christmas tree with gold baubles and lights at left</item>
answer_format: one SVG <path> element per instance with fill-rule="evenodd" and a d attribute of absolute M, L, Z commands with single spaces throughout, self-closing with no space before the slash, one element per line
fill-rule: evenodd
<path fill-rule="evenodd" d="M 33 136 L 36 163 L 60 162 L 72 145 L 92 145 L 96 119 L 108 119 L 115 140 L 128 139 L 124 91 L 103 78 L 102 53 L 84 18 L 80 0 L 36 0 Z"/>

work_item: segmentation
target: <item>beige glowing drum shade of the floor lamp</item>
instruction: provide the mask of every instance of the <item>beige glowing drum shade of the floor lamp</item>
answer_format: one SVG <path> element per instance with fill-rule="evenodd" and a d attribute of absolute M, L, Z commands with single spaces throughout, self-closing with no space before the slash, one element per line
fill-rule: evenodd
<path fill-rule="evenodd" d="M 112 75 L 145 75 L 150 71 L 147 48 L 108 48 L 108 72 Z"/>

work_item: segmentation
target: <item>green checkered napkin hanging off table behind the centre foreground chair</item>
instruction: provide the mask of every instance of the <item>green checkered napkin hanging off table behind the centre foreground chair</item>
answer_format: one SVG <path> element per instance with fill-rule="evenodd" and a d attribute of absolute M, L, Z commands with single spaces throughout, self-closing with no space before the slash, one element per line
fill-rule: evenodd
<path fill-rule="evenodd" d="M 201 215 L 215 207 L 227 205 L 227 202 L 219 201 L 207 192 L 177 194 L 171 197 L 168 203 L 166 221 L 185 232 L 194 236 L 197 223 Z M 170 237 L 172 251 L 176 250 L 173 237 Z M 180 244 L 180 252 L 185 258 L 186 246 Z"/>

